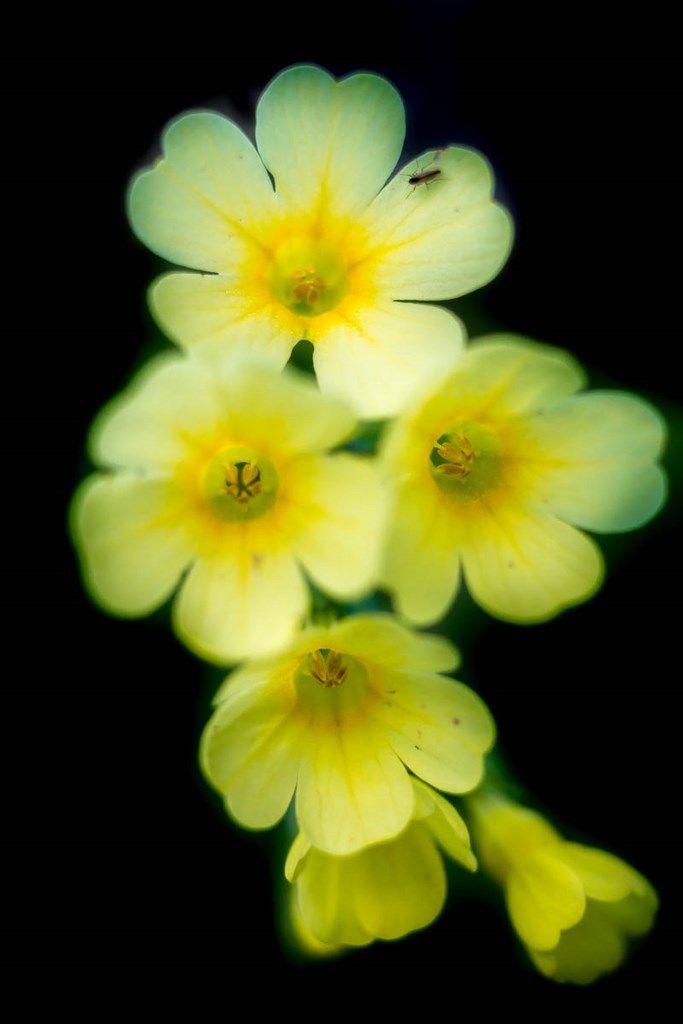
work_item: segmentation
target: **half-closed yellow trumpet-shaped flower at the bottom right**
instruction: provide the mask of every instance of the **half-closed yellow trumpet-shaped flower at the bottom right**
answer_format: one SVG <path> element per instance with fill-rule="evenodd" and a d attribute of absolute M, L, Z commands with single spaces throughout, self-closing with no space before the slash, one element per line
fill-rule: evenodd
<path fill-rule="evenodd" d="M 627 940 L 652 927 L 657 896 L 633 867 L 565 842 L 540 814 L 498 794 L 469 801 L 482 866 L 505 887 L 515 931 L 555 981 L 590 984 L 615 970 Z"/>

